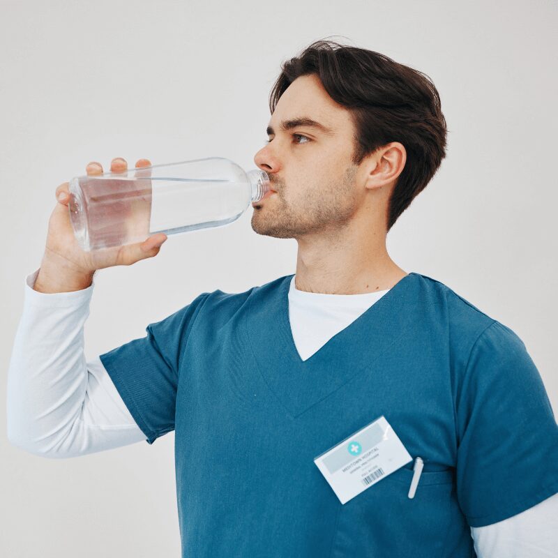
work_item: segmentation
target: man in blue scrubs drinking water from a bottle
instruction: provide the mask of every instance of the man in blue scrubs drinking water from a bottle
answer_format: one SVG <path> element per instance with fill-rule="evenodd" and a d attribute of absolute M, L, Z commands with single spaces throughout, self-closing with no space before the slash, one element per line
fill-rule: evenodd
<path fill-rule="evenodd" d="M 64 457 L 174 430 L 185 557 L 551 555 L 558 427 L 525 345 L 386 250 L 445 155 L 435 87 L 319 41 L 283 64 L 271 113 L 255 163 L 274 192 L 252 228 L 296 239 L 296 274 L 204 292 L 85 369 L 93 273 L 166 237 L 94 261 L 63 236 L 62 201 L 27 277 L 10 439 Z M 24 347 L 45 338 L 59 350 L 39 375 Z M 50 414 L 33 415 L 33 399 Z"/>

